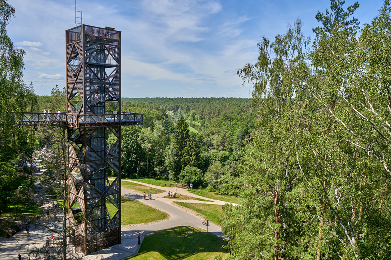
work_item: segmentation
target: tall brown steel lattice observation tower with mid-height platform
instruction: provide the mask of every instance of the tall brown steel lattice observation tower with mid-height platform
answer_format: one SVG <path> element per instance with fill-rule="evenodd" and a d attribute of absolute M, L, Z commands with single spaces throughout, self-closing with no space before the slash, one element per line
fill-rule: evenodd
<path fill-rule="evenodd" d="M 142 114 L 109 111 L 121 109 L 121 32 L 66 30 L 66 82 L 69 242 L 87 255 L 121 242 L 121 126 L 142 124 Z"/>

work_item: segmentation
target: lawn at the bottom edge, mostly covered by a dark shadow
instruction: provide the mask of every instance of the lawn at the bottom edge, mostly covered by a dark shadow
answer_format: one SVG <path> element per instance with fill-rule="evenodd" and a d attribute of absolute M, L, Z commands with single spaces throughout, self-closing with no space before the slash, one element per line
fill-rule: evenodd
<path fill-rule="evenodd" d="M 226 240 L 205 230 L 174 227 L 147 235 L 138 254 L 128 259 L 213 260 L 215 256 L 228 257 L 223 245 L 227 245 Z"/>

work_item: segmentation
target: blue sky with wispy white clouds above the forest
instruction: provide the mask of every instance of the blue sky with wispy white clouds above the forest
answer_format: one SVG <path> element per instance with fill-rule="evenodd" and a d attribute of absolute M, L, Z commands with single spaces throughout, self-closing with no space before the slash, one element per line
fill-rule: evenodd
<path fill-rule="evenodd" d="M 345 9 L 354 1 L 346 0 Z M 8 0 L 7 26 L 26 51 L 26 84 L 38 95 L 65 86 L 65 30 L 75 27 L 74 0 Z M 359 1 L 360 25 L 383 0 Z M 315 14 L 329 0 L 77 0 L 83 23 L 122 31 L 122 97 L 251 97 L 236 71 L 258 57 L 262 36 L 273 39 L 301 19 L 313 38 Z"/>

